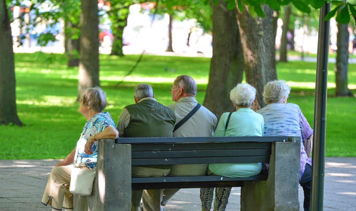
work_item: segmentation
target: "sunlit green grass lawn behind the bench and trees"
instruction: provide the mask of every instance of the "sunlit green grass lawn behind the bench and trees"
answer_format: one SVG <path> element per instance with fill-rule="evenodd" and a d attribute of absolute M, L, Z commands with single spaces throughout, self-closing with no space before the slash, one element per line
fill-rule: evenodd
<path fill-rule="evenodd" d="M 107 93 L 115 122 L 122 108 L 133 101 L 133 88 L 150 83 L 158 102 L 173 103 L 169 87 L 176 76 L 188 74 L 198 83 L 197 100 L 203 102 L 209 76 L 209 58 L 145 55 L 129 77 L 123 76 L 138 56 L 100 55 L 100 83 Z M 86 119 L 76 101 L 78 68 L 67 68 L 63 55 L 16 54 L 17 113 L 24 127 L 0 125 L 0 159 L 60 159 L 75 146 Z M 288 102 L 296 103 L 313 127 L 315 63 L 277 64 L 277 75 L 292 87 Z M 326 156 L 356 156 L 356 99 L 335 98 L 334 65 L 329 65 Z M 356 65 L 349 65 L 349 84 L 355 93 Z"/>

